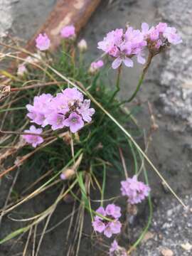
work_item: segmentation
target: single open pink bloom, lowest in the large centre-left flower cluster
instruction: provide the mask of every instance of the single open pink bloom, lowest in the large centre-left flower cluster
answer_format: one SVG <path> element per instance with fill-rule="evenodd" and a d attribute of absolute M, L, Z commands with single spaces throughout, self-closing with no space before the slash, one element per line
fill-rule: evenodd
<path fill-rule="evenodd" d="M 66 127 L 70 127 L 70 132 L 73 133 L 78 132 L 84 126 L 82 117 L 75 112 L 71 113 L 70 116 L 65 119 L 63 124 L 65 124 Z"/>

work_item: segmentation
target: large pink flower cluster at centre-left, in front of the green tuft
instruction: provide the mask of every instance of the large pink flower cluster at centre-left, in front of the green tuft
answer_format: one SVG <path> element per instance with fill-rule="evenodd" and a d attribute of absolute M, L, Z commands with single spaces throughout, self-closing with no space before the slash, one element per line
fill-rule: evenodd
<path fill-rule="evenodd" d="M 90 100 L 83 100 L 76 88 L 67 88 L 55 97 L 43 93 L 34 97 L 33 105 L 26 105 L 27 116 L 41 127 L 50 124 L 53 130 L 69 127 L 70 132 L 78 132 L 84 122 L 91 122 L 95 113 L 90 108 Z"/>

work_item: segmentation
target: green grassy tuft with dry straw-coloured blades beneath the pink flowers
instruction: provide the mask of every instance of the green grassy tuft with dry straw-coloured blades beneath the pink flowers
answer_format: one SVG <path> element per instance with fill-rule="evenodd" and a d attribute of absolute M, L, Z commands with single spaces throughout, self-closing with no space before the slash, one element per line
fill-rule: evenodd
<path fill-rule="evenodd" d="M 112 114 L 114 119 L 117 119 L 117 122 L 124 127 L 134 127 L 134 133 L 138 131 L 136 125 L 132 122 L 132 115 L 124 111 L 124 108 L 120 106 L 121 103 L 119 100 L 114 97 L 116 90 L 112 90 L 106 84 L 106 79 L 102 79 L 107 70 L 103 69 L 97 71 L 94 75 L 90 75 L 87 70 L 88 67 L 83 60 L 83 55 L 80 53 L 80 55 L 75 57 L 75 54 L 78 55 L 75 49 L 71 48 L 68 49 L 68 53 L 63 50 L 59 51 L 54 56 L 54 60 L 53 56 L 47 55 L 46 58 L 43 57 L 42 63 L 39 64 L 41 65 L 41 69 L 33 69 L 28 64 L 28 74 L 23 78 L 11 81 L 12 92 L 9 97 L 4 99 L 1 105 L 1 119 L 5 120 L 1 127 L 1 130 L 3 130 L 2 134 L 4 134 L 4 141 L 1 142 L 2 154 L 7 154 L 7 150 L 9 151 L 7 146 L 14 148 L 13 154 L 9 154 L 9 157 L 4 157 L 6 171 L 17 168 L 14 165 L 16 157 L 19 157 L 18 161 L 22 163 L 20 169 L 21 171 L 25 171 L 26 175 L 29 170 L 36 170 L 34 173 L 35 181 L 41 180 L 41 176 L 44 176 L 48 170 L 53 170 L 46 176 L 46 183 L 41 182 L 41 186 L 34 191 L 32 190 L 32 193 L 29 195 L 24 194 L 24 196 L 19 196 L 19 191 L 14 191 L 13 189 L 14 193 L 12 194 L 17 194 L 17 201 L 9 201 L 11 204 L 6 206 L 1 213 L 10 212 L 18 206 L 17 203 L 22 204 L 28 201 L 33 196 L 43 192 L 48 186 L 56 186 L 57 191 L 62 190 L 63 182 L 60 182 L 60 173 L 68 168 L 73 168 L 75 163 L 78 162 L 78 166 L 75 169 L 77 171 L 76 175 L 70 179 L 68 189 L 65 189 L 64 192 L 62 191 L 55 203 L 45 212 L 41 213 L 40 216 L 37 215 L 26 227 L 16 230 L 16 232 L 11 233 L 4 240 L 1 240 L 1 243 L 14 238 L 16 235 L 27 232 L 42 220 L 46 220 L 53 213 L 61 198 L 68 193 L 71 193 L 75 201 L 79 201 L 80 206 L 83 206 L 81 208 L 83 212 L 87 210 L 91 215 L 94 215 L 95 211 L 91 207 L 90 197 L 88 196 L 90 187 L 87 186 L 87 183 L 97 186 L 100 191 L 100 203 L 102 204 L 105 183 L 107 182 L 106 175 L 110 176 L 110 171 L 112 172 L 113 170 L 122 171 L 122 166 L 119 165 L 121 161 L 119 148 L 127 151 L 128 147 L 131 153 L 134 152 L 133 148 L 129 148 L 126 134 L 120 132 L 117 124 L 100 107 L 95 105 L 94 102 L 92 102 L 92 107 L 95 108 L 95 115 L 92 122 L 86 124 L 78 134 L 74 135 L 68 132 L 67 136 L 63 136 L 66 129 L 53 132 L 48 127 L 43 132 L 45 142 L 41 146 L 38 146 L 37 149 L 33 150 L 31 146 L 21 143 L 19 132 L 23 132 L 23 129 L 29 126 L 29 120 L 26 117 L 26 105 L 33 102 L 33 97 L 42 93 L 55 95 L 66 87 L 71 87 L 67 81 L 61 79 L 58 73 L 65 74 L 65 78 L 70 79 L 75 85 L 78 85 L 80 90 L 90 93 L 97 102 L 100 102 L 100 105 L 107 112 Z M 51 65 L 53 69 L 49 69 L 47 65 Z M 49 82 L 55 82 L 55 84 L 46 85 Z M 23 90 L 30 85 L 34 85 L 34 87 Z M 10 134 L 6 134 L 5 131 L 12 131 L 13 134 L 11 132 Z M 18 134 L 14 134 L 14 132 L 18 132 Z M 21 146 L 18 146 L 18 144 L 21 144 Z M 137 157 L 135 161 L 137 161 Z M 13 166 L 10 166 L 10 163 Z M 24 186 L 31 187 L 31 183 L 26 183 Z M 32 188 L 34 188 L 33 183 Z M 80 191 L 81 196 L 78 191 Z M 80 238 L 82 229 L 79 229 L 78 233 L 80 234 Z M 76 240 L 74 242 L 74 244 L 77 243 L 77 247 L 78 241 Z"/>

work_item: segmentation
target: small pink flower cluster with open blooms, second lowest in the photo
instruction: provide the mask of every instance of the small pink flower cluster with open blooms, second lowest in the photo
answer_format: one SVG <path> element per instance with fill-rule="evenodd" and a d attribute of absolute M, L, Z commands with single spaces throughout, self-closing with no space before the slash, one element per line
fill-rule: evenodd
<path fill-rule="evenodd" d="M 120 233 L 122 224 L 119 222 L 121 217 L 121 208 L 119 206 L 109 204 L 105 209 L 100 206 L 96 213 L 99 213 L 104 218 L 100 215 L 95 216 L 92 222 L 92 227 L 95 231 L 104 233 L 107 238 L 111 238 L 113 234 Z M 110 218 L 112 221 L 106 220 L 105 217 Z"/>

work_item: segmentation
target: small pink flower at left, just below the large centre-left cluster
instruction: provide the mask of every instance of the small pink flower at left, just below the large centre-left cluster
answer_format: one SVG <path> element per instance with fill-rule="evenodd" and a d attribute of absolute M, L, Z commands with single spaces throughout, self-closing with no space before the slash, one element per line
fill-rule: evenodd
<path fill-rule="evenodd" d="M 25 130 L 26 133 L 33 133 L 33 134 L 41 134 L 42 129 L 36 128 L 34 125 L 31 125 L 31 127 L 28 130 Z M 31 144 L 33 147 L 36 147 L 38 144 L 41 144 L 43 142 L 43 138 L 38 135 L 32 135 L 32 134 L 26 134 L 23 135 L 23 139 L 28 142 L 28 144 Z"/>

